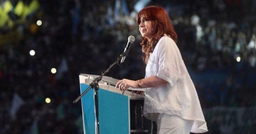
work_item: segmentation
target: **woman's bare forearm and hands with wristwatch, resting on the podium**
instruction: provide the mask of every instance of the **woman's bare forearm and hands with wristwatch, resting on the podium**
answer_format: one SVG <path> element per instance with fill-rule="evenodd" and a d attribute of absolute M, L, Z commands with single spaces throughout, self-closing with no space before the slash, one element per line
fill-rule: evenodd
<path fill-rule="evenodd" d="M 141 85 L 139 85 L 139 83 Z M 136 80 L 136 81 L 129 80 L 129 79 L 119 80 L 116 83 L 116 88 L 119 87 L 119 89 L 121 91 L 123 91 L 123 90 L 127 90 L 128 87 L 133 87 L 133 88 L 138 88 L 138 87 L 141 87 L 141 88 L 144 88 L 144 87 L 157 87 L 157 86 L 165 85 L 167 83 L 168 82 L 165 81 L 164 79 L 159 78 L 156 75 L 154 75 L 154 76 L 151 76 L 151 77 L 148 77 L 148 78 L 143 78 L 143 79 Z"/>

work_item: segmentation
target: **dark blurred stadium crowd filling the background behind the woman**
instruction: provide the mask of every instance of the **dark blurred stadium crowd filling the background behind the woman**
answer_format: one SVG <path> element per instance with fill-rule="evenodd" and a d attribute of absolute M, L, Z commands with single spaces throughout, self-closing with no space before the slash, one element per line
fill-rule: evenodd
<path fill-rule="evenodd" d="M 124 63 L 107 76 L 136 80 L 145 75 L 135 22 L 143 5 L 162 5 L 168 11 L 203 110 L 255 105 L 255 0 L 38 3 L 29 16 L 16 14 L 12 25 L 0 27 L 1 134 L 83 133 L 81 104 L 72 103 L 80 94 L 80 73 L 100 75 L 133 35 L 136 41 Z M 36 25 L 39 19 L 41 26 Z"/>

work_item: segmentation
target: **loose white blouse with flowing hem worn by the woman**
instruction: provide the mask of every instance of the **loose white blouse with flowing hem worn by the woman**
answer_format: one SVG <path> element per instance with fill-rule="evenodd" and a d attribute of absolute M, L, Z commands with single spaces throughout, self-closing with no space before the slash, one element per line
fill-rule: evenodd
<path fill-rule="evenodd" d="M 145 78 L 154 75 L 169 83 L 145 89 L 144 116 L 153 119 L 152 113 L 176 115 L 182 119 L 195 120 L 191 132 L 207 132 L 195 86 L 179 48 L 168 36 L 163 36 L 153 53 L 150 53 Z"/>

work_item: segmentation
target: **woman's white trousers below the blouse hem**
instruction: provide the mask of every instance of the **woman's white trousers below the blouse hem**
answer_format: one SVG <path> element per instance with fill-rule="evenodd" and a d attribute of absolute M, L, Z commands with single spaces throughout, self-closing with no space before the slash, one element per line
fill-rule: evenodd
<path fill-rule="evenodd" d="M 159 114 L 157 134 L 189 134 L 194 121 L 181 119 L 175 115 Z"/>

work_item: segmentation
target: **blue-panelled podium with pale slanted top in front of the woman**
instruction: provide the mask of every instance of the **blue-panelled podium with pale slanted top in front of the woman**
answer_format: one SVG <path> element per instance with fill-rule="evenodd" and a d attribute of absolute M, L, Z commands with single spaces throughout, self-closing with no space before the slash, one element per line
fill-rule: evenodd
<path fill-rule="evenodd" d="M 83 93 L 97 75 L 80 74 Z M 98 90 L 98 119 L 100 134 L 148 134 L 151 121 L 143 114 L 144 96 L 115 89 L 117 79 L 103 76 Z M 132 88 L 129 88 L 132 90 Z M 84 134 L 96 134 L 94 90 L 81 98 Z"/>

